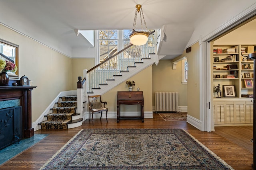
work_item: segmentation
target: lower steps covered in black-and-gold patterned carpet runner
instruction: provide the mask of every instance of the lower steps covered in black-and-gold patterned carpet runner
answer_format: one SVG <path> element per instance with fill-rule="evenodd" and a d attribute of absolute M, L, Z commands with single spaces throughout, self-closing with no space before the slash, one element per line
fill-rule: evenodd
<path fill-rule="evenodd" d="M 47 120 L 38 123 L 41 125 L 41 129 L 68 129 L 68 125 L 71 123 L 82 123 L 82 118 L 73 119 L 80 115 L 80 113 L 76 113 L 77 96 L 64 96 L 60 99 L 61 101 L 56 103 L 57 107 L 51 109 L 52 113 L 45 115 Z"/>

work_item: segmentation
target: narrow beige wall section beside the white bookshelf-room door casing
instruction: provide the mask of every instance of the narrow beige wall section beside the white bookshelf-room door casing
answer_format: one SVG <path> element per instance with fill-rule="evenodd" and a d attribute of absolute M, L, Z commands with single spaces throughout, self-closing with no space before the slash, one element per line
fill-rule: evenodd
<path fill-rule="evenodd" d="M 184 53 L 186 53 L 184 51 Z M 186 53 L 188 61 L 188 115 L 200 120 L 199 43 Z"/>

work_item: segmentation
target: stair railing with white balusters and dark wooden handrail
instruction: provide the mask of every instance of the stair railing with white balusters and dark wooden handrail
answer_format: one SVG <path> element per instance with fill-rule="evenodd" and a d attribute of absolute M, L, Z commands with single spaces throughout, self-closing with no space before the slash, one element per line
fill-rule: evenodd
<path fill-rule="evenodd" d="M 88 70 L 86 74 L 86 91 L 89 93 L 93 92 L 93 89 L 100 88 L 100 85 L 114 80 L 114 76 L 121 75 L 121 71 L 128 71 L 128 67 L 142 62 L 143 58 L 149 58 L 148 54 L 155 52 L 154 32 L 150 32 L 148 42 L 145 45 L 137 46 L 130 44 Z"/>

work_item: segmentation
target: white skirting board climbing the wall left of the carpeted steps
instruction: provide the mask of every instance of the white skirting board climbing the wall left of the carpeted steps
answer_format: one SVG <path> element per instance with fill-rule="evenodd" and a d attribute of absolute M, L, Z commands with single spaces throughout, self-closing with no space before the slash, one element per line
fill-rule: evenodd
<path fill-rule="evenodd" d="M 56 98 L 50 103 L 50 105 L 48 107 L 46 107 L 46 109 L 44 110 L 44 112 L 40 115 L 40 117 L 38 117 L 38 119 L 35 122 L 32 122 L 32 128 L 34 128 L 34 131 L 37 131 L 39 128 L 38 123 L 44 121 L 44 115 L 47 115 L 48 113 L 50 113 L 50 109 L 52 107 L 54 107 L 55 103 L 59 101 L 60 97 L 62 96 L 68 96 L 68 95 L 75 95 L 77 94 L 76 90 L 70 90 L 70 91 L 64 91 L 64 92 L 60 92 L 58 94 L 58 96 L 56 96 Z"/>

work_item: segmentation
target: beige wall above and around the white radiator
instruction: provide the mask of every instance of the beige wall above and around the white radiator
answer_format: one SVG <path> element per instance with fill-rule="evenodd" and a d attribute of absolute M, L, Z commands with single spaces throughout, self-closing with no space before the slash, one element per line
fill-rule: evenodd
<path fill-rule="evenodd" d="M 171 60 L 160 60 L 152 66 L 152 96 L 155 106 L 155 92 L 179 92 L 178 106 L 187 105 L 187 85 L 182 84 L 182 61 L 172 69 Z"/>

